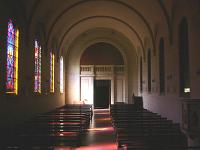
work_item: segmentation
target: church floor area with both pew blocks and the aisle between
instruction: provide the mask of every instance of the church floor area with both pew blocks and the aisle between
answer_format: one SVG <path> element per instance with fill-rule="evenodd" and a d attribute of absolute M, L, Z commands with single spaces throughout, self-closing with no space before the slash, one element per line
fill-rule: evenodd
<path fill-rule="evenodd" d="M 67 104 L 15 127 L 2 149 L 54 150 L 195 150 L 179 124 L 134 104 L 110 109 Z"/>

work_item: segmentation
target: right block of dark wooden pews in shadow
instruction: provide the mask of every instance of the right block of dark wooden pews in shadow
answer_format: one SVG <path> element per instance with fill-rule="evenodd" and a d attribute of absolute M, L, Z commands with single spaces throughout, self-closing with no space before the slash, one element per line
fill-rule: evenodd
<path fill-rule="evenodd" d="M 185 148 L 187 140 L 178 124 L 134 104 L 111 106 L 119 147 L 127 149 Z"/>

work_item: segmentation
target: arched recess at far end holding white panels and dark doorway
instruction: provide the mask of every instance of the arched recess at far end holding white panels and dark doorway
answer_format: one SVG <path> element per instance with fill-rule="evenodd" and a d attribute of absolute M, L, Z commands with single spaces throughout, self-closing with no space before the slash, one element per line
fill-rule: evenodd
<path fill-rule="evenodd" d="M 82 101 L 94 108 L 108 108 L 113 103 L 111 97 L 125 101 L 124 60 L 116 47 L 95 43 L 83 52 L 80 65 Z"/>

